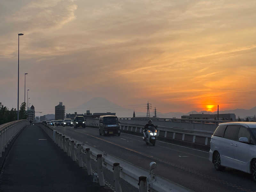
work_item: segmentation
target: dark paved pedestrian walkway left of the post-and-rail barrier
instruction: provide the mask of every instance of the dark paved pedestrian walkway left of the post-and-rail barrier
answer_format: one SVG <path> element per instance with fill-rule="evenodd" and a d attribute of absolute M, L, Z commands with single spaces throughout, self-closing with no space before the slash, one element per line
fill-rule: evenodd
<path fill-rule="evenodd" d="M 14 142 L 0 174 L 0 191 L 107 192 L 36 125 Z"/>

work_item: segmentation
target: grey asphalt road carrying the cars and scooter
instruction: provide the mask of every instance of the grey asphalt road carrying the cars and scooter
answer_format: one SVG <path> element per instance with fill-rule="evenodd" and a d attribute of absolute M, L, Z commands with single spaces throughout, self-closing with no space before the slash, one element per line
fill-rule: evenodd
<path fill-rule="evenodd" d="M 54 129 L 146 170 L 149 170 L 149 163 L 155 161 L 156 175 L 196 192 L 256 192 L 256 183 L 250 174 L 233 169 L 216 171 L 207 151 L 162 141 L 157 141 L 155 147 L 147 146 L 139 136 L 126 133 L 121 133 L 120 137 L 100 136 L 95 128 L 58 126 Z"/>

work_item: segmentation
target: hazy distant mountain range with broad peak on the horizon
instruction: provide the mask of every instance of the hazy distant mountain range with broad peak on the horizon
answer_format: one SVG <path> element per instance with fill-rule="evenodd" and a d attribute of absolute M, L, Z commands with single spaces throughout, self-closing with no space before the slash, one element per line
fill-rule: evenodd
<path fill-rule="evenodd" d="M 105 112 L 114 112 L 118 117 L 132 117 L 133 115 L 133 109 L 124 108 L 116 103 L 113 103 L 105 98 L 102 97 L 95 97 L 91 100 L 85 102 L 84 104 L 77 107 L 77 113 L 85 113 L 86 110 L 90 110 L 91 113 L 105 113 Z M 74 113 L 74 111 L 70 111 L 67 113 Z M 161 113 L 157 112 L 158 117 L 162 118 L 181 118 L 182 115 L 189 115 L 189 114 L 196 114 L 196 113 L 204 113 L 204 114 L 217 114 L 217 111 L 210 112 L 210 111 L 190 111 L 188 113 L 182 113 L 182 112 L 169 112 L 169 113 Z M 219 113 L 235 113 L 236 118 L 240 116 L 241 118 L 244 118 L 246 116 L 254 116 L 256 114 L 256 107 L 251 109 L 234 109 L 234 110 L 225 110 L 225 111 L 219 111 Z M 146 116 L 146 112 L 139 112 L 135 110 L 135 115 L 137 117 L 139 116 Z M 150 114 L 153 116 L 153 113 Z"/>

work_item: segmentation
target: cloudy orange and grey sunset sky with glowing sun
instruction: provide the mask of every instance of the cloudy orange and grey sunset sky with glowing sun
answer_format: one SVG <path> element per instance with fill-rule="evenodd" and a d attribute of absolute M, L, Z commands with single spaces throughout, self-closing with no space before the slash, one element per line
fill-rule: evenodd
<path fill-rule="evenodd" d="M 94 97 L 149 101 L 162 113 L 249 109 L 255 20 L 255 0 L 2 0 L 0 102 L 17 108 L 24 33 L 20 103 L 28 73 L 30 103 L 43 114 Z"/>

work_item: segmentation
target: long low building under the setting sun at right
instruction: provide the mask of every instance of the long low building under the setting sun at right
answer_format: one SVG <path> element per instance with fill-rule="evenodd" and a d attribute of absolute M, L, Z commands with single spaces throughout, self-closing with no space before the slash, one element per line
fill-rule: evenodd
<path fill-rule="evenodd" d="M 189 114 L 181 116 L 181 119 L 209 119 L 218 120 L 218 114 Z M 219 114 L 219 120 L 223 121 L 236 121 L 235 113 Z"/>

